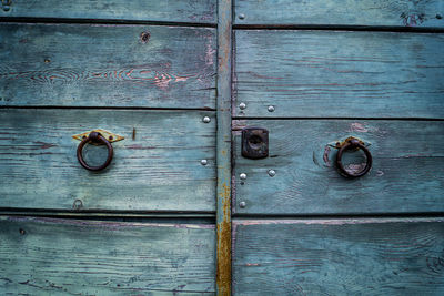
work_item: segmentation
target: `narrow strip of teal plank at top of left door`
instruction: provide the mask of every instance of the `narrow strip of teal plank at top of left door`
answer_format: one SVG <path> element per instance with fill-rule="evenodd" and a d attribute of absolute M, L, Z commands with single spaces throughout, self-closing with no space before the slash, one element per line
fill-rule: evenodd
<path fill-rule="evenodd" d="M 9 1 L 0 4 L 0 17 L 215 23 L 216 0 Z"/>

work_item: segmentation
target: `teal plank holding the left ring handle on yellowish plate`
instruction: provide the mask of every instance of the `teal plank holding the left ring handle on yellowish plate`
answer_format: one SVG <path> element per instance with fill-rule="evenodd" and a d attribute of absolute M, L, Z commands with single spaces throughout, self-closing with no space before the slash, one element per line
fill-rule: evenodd
<path fill-rule="evenodd" d="M 214 112 L 3 109 L 0 118 L 0 207 L 215 211 Z M 125 137 L 97 173 L 80 166 L 71 137 L 94 129 Z M 105 155 L 85 147 L 92 165 Z"/>

